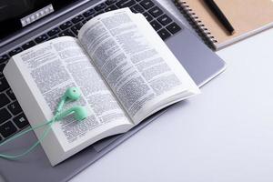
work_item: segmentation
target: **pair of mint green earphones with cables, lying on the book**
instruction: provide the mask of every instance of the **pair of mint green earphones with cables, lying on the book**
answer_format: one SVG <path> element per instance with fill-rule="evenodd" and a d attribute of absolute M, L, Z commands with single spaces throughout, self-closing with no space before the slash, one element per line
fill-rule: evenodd
<path fill-rule="evenodd" d="M 5 142 L 0 144 L 0 147 L 4 146 L 6 143 L 13 141 L 15 138 L 17 138 L 19 136 L 24 136 L 26 133 L 28 133 L 30 131 L 34 131 L 35 129 L 43 127 L 43 126 L 48 126 L 45 129 L 43 135 L 38 139 L 38 141 L 36 141 L 33 146 L 29 147 L 27 150 L 25 150 L 25 152 L 23 152 L 21 154 L 16 154 L 16 155 L 0 154 L 0 157 L 6 158 L 6 159 L 15 159 L 18 157 L 24 157 L 25 155 L 29 154 L 32 150 L 35 149 L 35 147 L 37 147 L 45 139 L 45 136 L 48 135 L 52 124 L 56 121 L 62 120 L 66 116 L 73 115 L 77 121 L 84 120 L 88 116 L 85 106 L 73 106 L 65 111 L 62 111 L 63 107 L 65 106 L 67 101 L 76 101 L 80 98 L 80 96 L 81 96 L 81 92 L 80 92 L 79 88 L 77 88 L 77 87 L 67 88 L 66 93 L 64 94 L 64 96 L 62 96 L 61 101 L 59 102 L 59 104 L 56 108 L 55 116 L 53 116 L 53 118 L 50 121 L 47 121 L 47 122 L 45 122 L 41 125 L 38 125 L 38 126 L 32 126 L 31 128 L 26 129 L 26 130 L 22 131 L 21 133 L 18 133 L 17 135 L 8 138 L 7 140 L 5 140 Z"/>

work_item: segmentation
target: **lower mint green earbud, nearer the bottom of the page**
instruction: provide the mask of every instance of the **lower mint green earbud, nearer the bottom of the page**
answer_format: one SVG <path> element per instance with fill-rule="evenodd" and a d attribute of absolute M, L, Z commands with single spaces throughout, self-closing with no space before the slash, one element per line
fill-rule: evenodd
<path fill-rule="evenodd" d="M 57 114 L 56 121 L 69 115 L 74 115 L 77 121 L 84 120 L 88 116 L 85 106 L 73 106 L 64 112 Z"/>

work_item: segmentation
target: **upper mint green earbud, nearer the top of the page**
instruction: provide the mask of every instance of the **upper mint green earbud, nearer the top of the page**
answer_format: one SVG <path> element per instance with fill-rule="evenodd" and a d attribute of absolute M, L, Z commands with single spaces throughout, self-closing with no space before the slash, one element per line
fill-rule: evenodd
<path fill-rule="evenodd" d="M 59 102 L 59 105 L 56 108 L 56 111 L 60 112 L 63 109 L 67 100 L 76 101 L 77 99 L 80 98 L 80 96 L 81 96 L 81 92 L 79 88 L 77 87 L 67 88 L 66 93 L 64 94 L 64 96 L 62 96 L 61 101 Z"/>

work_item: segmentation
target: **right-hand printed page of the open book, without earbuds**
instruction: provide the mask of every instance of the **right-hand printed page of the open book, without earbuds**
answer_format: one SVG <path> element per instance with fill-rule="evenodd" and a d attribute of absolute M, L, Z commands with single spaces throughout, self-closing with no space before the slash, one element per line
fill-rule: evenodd
<path fill-rule="evenodd" d="M 78 37 L 135 124 L 177 101 L 175 96 L 198 93 L 143 15 L 127 8 L 98 15 Z"/>

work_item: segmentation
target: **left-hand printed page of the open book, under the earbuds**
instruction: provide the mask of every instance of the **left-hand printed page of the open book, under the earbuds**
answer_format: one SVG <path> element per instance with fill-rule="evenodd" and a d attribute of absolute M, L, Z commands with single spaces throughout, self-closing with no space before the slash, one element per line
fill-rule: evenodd
<path fill-rule="evenodd" d="M 45 112 L 46 120 L 52 118 L 66 88 L 80 88 L 81 98 L 66 103 L 64 110 L 86 106 L 89 116 L 80 122 L 73 116 L 66 116 L 53 126 L 64 148 L 77 147 L 116 126 L 132 126 L 76 38 L 56 38 L 28 49 L 14 59 L 26 76 L 25 80 L 32 85 L 32 94 L 40 96 L 37 102 Z"/>

